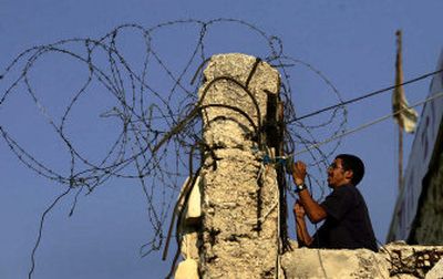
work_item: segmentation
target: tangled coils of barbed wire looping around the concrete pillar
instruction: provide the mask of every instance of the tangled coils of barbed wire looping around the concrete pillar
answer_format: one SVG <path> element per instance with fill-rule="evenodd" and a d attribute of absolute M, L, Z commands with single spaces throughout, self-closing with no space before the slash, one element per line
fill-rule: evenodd
<path fill-rule="evenodd" d="M 297 148 L 306 148 L 344 132 L 344 106 L 337 106 L 328 117 L 311 117 L 309 124 L 297 121 L 293 100 L 302 93 L 291 90 L 290 76 L 296 70 L 313 73 L 326 85 L 327 91 L 332 93 L 338 102 L 342 102 L 339 91 L 312 65 L 286 54 L 282 41 L 278 37 L 269 35 L 241 20 L 177 20 L 147 28 L 123 24 L 101 38 L 72 38 L 30 48 L 17 55 L 6 70 L 0 72 L 0 112 L 12 106 L 16 99 L 19 102 L 31 100 L 37 113 L 44 121 L 47 128 L 49 127 L 44 131 L 52 133 L 64 151 L 59 156 L 69 163 L 63 169 L 51 166 L 48 159 L 35 155 L 35 146 L 23 144 L 24 141 L 20 136 L 10 132 L 10 123 L 0 117 L 0 134 L 17 158 L 27 168 L 65 189 L 41 218 L 39 240 L 32 252 L 29 277 L 32 276 L 34 254 L 48 211 L 60 203 L 60 199 L 71 197 L 72 215 L 82 193 L 89 195 L 96 187 L 105 186 L 110 179 L 140 183 L 152 226 L 151 239 L 142 246 L 141 255 L 161 249 L 167 229 L 165 224 L 172 214 L 181 182 L 189 175 L 189 168 L 192 169 L 188 164 L 202 159 L 200 154 L 193 152 L 196 145 L 203 143 L 202 118 L 198 114 L 202 107 L 196 107 L 196 104 L 197 91 L 204 79 L 202 70 L 208 59 L 217 54 L 212 38 L 219 40 L 223 33 L 217 33 L 216 28 L 230 27 L 241 29 L 250 38 L 261 42 L 261 45 L 254 45 L 253 51 L 237 45 L 234 48 L 236 52 L 247 52 L 261 58 L 280 71 L 280 97 L 285 103 L 287 120 L 286 154 L 292 154 Z M 184 30 L 194 37 L 178 42 L 168 35 L 168 32 Z M 161 48 L 158 41 L 165 38 L 171 48 L 178 49 L 184 56 L 183 61 L 164 54 L 164 44 Z M 130 40 L 136 40 L 137 43 L 127 45 Z M 141 53 L 128 52 L 132 48 L 140 49 Z M 48 100 L 53 97 L 44 95 L 45 86 L 38 83 L 40 75 L 49 69 L 45 61 L 51 59 L 60 64 L 71 63 L 75 72 L 75 85 L 64 87 L 56 101 L 51 101 L 55 105 L 51 102 L 49 105 Z M 192 82 L 195 79 L 199 82 Z M 103 95 L 103 102 L 89 106 L 89 101 L 95 102 L 96 95 Z M 56 110 L 53 106 L 56 106 Z M 83 151 L 87 143 L 82 142 L 82 134 L 73 128 L 82 122 L 81 114 L 87 110 L 95 110 L 93 112 L 96 112 L 96 125 L 111 126 L 114 132 L 111 138 L 100 140 L 101 147 L 107 144 L 101 153 Z M 326 138 L 324 134 L 318 133 L 324 127 L 329 131 Z M 310 165 L 317 166 L 318 173 L 322 174 L 339 145 L 340 141 L 330 144 L 328 148 L 310 149 Z M 194 161 L 188 159 L 189 154 Z M 313 180 L 323 193 L 326 187 L 321 178 L 315 176 Z"/>

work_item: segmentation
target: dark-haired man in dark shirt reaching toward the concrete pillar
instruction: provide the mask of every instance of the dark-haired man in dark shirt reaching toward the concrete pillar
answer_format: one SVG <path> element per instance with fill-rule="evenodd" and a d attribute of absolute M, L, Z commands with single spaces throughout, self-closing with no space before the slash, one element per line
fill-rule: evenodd
<path fill-rule="evenodd" d="M 293 214 L 300 246 L 378 250 L 367 205 L 357 189 L 363 175 L 364 165 L 359 157 L 338 155 L 328 167 L 328 185 L 332 193 L 318 204 L 305 186 L 306 165 L 302 162 L 293 164 L 292 178 L 299 195 Z M 313 224 L 324 220 L 313 237 L 308 232 L 305 215 Z"/>

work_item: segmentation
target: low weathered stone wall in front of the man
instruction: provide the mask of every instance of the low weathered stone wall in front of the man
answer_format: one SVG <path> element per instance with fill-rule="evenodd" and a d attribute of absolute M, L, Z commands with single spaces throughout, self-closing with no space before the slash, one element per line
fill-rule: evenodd
<path fill-rule="evenodd" d="M 297 247 L 297 244 L 293 247 Z M 367 249 L 327 250 L 300 248 L 282 256 L 282 268 L 288 279 L 405 279 L 424 278 L 426 273 L 430 273 L 429 278 L 443 278 L 442 267 L 436 266 L 441 258 L 443 258 L 443 246 L 391 244 L 382 247 L 380 252 Z"/>

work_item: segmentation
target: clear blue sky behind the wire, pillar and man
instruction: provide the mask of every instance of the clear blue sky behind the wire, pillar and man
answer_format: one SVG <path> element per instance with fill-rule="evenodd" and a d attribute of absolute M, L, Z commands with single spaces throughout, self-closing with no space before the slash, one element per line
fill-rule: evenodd
<path fill-rule="evenodd" d="M 100 38 L 124 23 L 154 27 L 178 19 L 210 20 L 233 18 L 247 21 L 267 34 L 279 37 L 287 55 L 301 59 L 320 70 L 349 100 L 389 86 L 394 80 L 396 29 L 403 30 L 403 70 L 405 80 L 435 70 L 443 46 L 441 11 L 434 1 L 23 1 L 0 0 L 0 70 L 25 49 L 66 38 Z M 237 30 L 238 29 L 238 30 Z M 172 69 L 183 68 L 186 53 L 195 43 L 195 30 L 184 28 L 158 35 L 158 50 Z M 248 34 L 248 35 L 245 35 Z M 214 29 L 207 54 L 247 52 L 261 54 L 266 46 L 257 37 L 235 25 Z M 123 48 L 136 61 L 137 41 Z M 41 62 L 32 82 L 44 89 L 42 100 L 50 112 L 66 105 L 60 95 L 78 84 L 81 72 L 56 55 Z M 56 78 L 55 78 L 56 76 Z M 59 76 L 65 79 L 54 82 Z M 158 90 L 165 90 L 156 76 Z M 6 80 L 0 80 L 1 94 Z M 291 75 L 292 100 L 299 114 L 337 102 L 329 87 L 306 69 Z M 430 80 L 405 87 L 410 103 L 425 99 Z M 390 94 L 351 104 L 348 127 L 357 127 L 391 111 Z M 84 120 L 103 111 L 109 100 L 90 96 L 79 112 Z M 91 110 L 86 110 L 90 107 Z M 94 112 L 94 113 L 92 113 Z M 91 113 L 91 115 L 89 114 Z M 63 148 L 48 140 L 50 128 L 23 90 L 18 90 L 0 106 L 0 125 L 10 131 L 29 151 L 54 169 L 65 172 Z M 85 154 L 100 152 L 101 144 L 115 132 L 112 123 L 72 124 L 75 143 Z M 387 121 L 346 137 L 339 153 L 360 155 L 367 164 L 361 190 L 365 196 L 379 240 L 384 241 L 396 198 L 395 126 Z M 107 134 L 110 133 L 110 134 Z M 330 131 L 319 132 L 319 138 Z M 405 158 L 413 135 L 405 137 Z M 328 146 L 324 146 L 328 149 Z M 69 158 L 69 157 L 68 157 Z M 309 156 L 301 159 L 310 162 Z M 30 252 L 35 242 L 42 213 L 64 188 L 31 172 L 0 142 L 0 277 L 25 278 Z M 312 170 L 313 172 L 313 170 Z M 321 179 L 321 176 L 318 176 Z M 292 203 L 291 200 L 289 203 Z M 81 196 L 75 214 L 68 217 L 72 198 L 61 203 L 48 216 L 37 254 L 33 278 L 162 278 L 169 261 L 161 254 L 141 258 L 140 247 L 150 239 L 152 228 L 146 202 L 136 182 L 111 179 L 92 195 Z M 168 220 L 168 219 L 167 219 Z M 290 228 L 293 237 L 293 228 Z"/>

